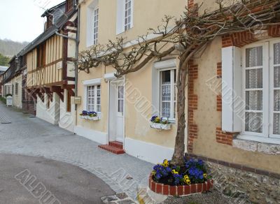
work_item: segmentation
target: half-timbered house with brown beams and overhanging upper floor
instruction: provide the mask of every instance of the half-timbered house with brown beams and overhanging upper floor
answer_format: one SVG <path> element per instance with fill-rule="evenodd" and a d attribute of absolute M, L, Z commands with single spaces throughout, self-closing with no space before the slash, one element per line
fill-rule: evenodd
<path fill-rule="evenodd" d="M 36 117 L 73 131 L 75 89 L 76 3 L 67 0 L 43 13 L 45 31 L 22 50 L 24 84 L 36 101 Z M 27 99 L 27 101 L 30 101 Z"/>

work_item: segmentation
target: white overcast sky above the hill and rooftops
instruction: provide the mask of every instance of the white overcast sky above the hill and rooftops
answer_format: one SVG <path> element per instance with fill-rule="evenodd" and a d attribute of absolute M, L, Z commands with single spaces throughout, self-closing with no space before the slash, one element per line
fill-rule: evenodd
<path fill-rule="evenodd" d="M 44 9 L 64 0 L 0 0 L 0 38 L 31 42 L 43 32 Z"/>

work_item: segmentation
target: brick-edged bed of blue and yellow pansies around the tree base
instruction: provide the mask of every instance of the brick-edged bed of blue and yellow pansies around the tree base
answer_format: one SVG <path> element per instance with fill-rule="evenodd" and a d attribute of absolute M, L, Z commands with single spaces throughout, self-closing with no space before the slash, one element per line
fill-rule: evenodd
<path fill-rule="evenodd" d="M 165 159 L 153 167 L 149 187 L 157 194 L 186 196 L 209 191 L 213 183 L 204 161 L 190 159 L 182 166 L 175 166 Z"/>

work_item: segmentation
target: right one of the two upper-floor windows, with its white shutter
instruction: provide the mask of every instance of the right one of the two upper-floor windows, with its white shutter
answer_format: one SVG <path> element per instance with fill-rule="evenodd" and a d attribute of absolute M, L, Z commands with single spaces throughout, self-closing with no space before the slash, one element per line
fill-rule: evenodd
<path fill-rule="evenodd" d="M 133 0 L 117 0 L 117 34 L 133 27 Z"/>

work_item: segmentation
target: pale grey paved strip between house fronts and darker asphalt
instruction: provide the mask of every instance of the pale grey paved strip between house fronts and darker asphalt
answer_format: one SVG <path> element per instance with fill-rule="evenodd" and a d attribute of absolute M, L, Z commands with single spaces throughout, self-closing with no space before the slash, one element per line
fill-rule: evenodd
<path fill-rule="evenodd" d="M 101 150 L 98 143 L 1 105 L 1 102 L 0 114 L 11 122 L 0 124 L 0 153 L 43 156 L 79 166 L 97 175 L 117 194 L 125 192 L 134 199 L 137 187 L 148 184 L 152 163 Z"/>

